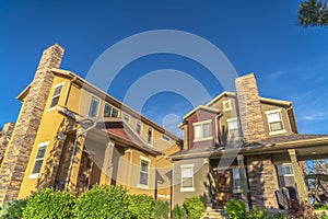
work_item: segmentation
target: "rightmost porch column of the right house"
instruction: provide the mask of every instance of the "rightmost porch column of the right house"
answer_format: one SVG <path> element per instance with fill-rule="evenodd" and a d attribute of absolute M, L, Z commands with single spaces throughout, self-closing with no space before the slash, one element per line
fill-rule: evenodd
<path fill-rule="evenodd" d="M 302 168 L 300 166 L 297 162 L 297 155 L 295 149 L 289 149 L 289 154 L 292 161 L 293 170 L 294 170 L 294 180 L 297 187 L 297 193 L 300 196 L 300 200 L 307 200 L 307 187 L 304 181 L 304 175 Z"/>

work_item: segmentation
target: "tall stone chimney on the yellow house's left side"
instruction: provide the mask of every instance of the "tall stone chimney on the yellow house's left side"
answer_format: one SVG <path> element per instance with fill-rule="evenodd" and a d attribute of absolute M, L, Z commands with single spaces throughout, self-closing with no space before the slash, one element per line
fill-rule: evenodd
<path fill-rule="evenodd" d="M 0 169 L 0 204 L 17 198 L 54 82 L 50 69 L 60 67 L 63 51 L 61 46 L 55 44 L 43 53 Z"/>

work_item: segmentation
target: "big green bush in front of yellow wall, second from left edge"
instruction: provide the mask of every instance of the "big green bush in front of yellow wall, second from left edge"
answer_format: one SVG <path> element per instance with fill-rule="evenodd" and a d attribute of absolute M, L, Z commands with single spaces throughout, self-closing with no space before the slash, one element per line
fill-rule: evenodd
<path fill-rule="evenodd" d="M 23 218 L 72 218 L 75 197 L 70 192 L 46 188 L 34 193 L 23 210 Z"/>

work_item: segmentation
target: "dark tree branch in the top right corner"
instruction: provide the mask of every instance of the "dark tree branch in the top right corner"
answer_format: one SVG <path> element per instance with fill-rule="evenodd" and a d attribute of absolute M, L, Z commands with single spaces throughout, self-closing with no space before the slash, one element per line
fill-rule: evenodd
<path fill-rule="evenodd" d="M 328 1 L 307 0 L 298 7 L 298 23 L 301 26 L 328 26 Z"/>

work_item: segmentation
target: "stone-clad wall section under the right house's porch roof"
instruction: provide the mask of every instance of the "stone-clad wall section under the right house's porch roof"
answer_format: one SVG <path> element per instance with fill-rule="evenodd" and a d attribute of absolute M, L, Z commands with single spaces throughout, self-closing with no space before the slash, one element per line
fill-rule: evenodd
<path fill-rule="evenodd" d="M 270 154 L 247 157 L 247 174 L 253 206 L 278 208 L 274 191 L 277 172 Z"/>

